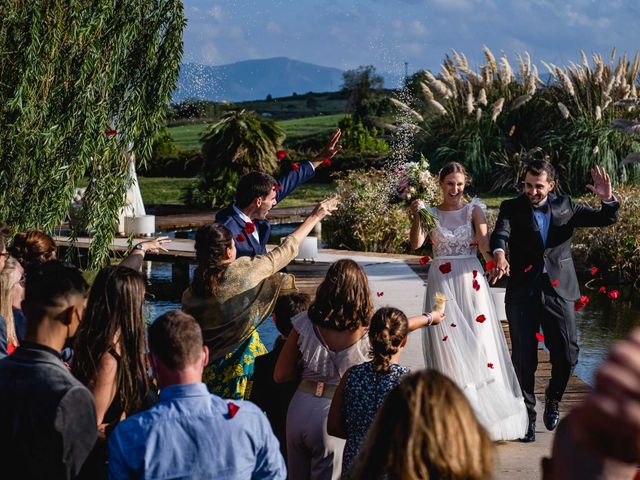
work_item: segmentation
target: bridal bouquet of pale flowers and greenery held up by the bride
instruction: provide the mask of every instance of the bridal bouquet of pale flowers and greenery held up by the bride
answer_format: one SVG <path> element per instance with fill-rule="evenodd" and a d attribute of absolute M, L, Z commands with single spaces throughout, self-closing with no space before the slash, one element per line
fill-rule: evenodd
<path fill-rule="evenodd" d="M 436 225 L 436 217 L 428 207 L 437 203 L 440 187 L 436 177 L 429 172 L 429 162 L 420 156 L 418 162 L 409 162 L 400 166 L 398 171 L 398 197 L 407 205 L 414 200 L 421 203 L 420 225 L 425 232 Z"/>

